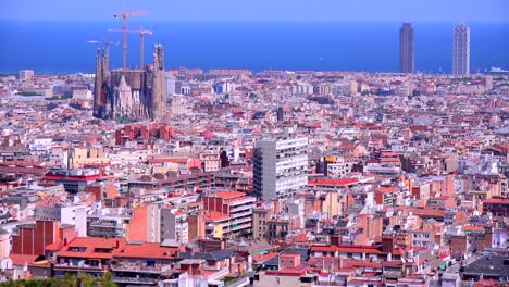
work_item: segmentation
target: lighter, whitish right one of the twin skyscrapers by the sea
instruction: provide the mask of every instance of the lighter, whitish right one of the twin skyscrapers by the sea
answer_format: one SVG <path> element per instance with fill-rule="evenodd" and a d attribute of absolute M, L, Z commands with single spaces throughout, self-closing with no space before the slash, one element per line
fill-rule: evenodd
<path fill-rule="evenodd" d="M 452 74 L 470 74 L 470 28 L 463 24 L 452 33 Z"/>

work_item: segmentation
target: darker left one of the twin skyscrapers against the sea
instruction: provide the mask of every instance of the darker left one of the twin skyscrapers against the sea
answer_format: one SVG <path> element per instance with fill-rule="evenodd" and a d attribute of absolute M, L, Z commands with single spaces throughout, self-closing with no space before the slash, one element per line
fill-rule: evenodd
<path fill-rule="evenodd" d="M 415 68 L 415 40 L 412 23 L 404 23 L 399 28 L 399 72 L 413 73 Z"/>

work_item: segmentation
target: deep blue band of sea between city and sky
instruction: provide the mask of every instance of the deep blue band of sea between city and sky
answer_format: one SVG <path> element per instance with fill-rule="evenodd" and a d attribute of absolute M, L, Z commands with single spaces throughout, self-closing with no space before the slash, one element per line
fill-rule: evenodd
<path fill-rule="evenodd" d="M 402 22 L 172 22 L 131 21 L 144 26 L 145 63 L 152 62 L 154 43 L 162 43 L 165 68 L 243 68 L 287 71 L 398 72 L 399 25 Z M 449 74 L 455 22 L 412 22 L 415 71 Z M 471 72 L 509 68 L 509 23 L 471 22 Z M 114 21 L 1 20 L 0 73 L 34 70 L 38 74 L 94 73 L 102 46 L 87 40 L 121 42 Z M 111 47 L 111 67 L 121 66 L 121 46 Z M 128 34 L 128 65 L 139 63 L 139 36 Z"/>

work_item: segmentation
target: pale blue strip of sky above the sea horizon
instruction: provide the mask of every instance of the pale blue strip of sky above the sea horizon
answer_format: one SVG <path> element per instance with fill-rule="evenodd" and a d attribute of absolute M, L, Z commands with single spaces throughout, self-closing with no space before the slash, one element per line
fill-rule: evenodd
<path fill-rule="evenodd" d="M 509 0 L 2 0 L 0 20 L 509 22 Z"/>

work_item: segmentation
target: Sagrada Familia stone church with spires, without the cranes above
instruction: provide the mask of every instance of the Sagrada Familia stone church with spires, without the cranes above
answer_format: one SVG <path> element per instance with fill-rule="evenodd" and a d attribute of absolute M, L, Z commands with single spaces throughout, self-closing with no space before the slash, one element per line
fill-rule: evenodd
<path fill-rule="evenodd" d="M 161 121 L 166 108 L 164 52 L 157 45 L 153 65 L 145 70 L 109 70 L 109 55 L 96 55 L 94 116 L 104 120 Z"/>

